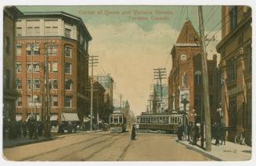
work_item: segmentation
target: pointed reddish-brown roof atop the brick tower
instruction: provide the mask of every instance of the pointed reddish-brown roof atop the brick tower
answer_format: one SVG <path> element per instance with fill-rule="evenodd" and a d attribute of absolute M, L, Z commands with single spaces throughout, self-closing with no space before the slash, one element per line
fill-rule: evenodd
<path fill-rule="evenodd" d="M 198 41 L 200 41 L 200 36 L 197 34 L 197 30 L 195 30 L 190 20 L 186 20 L 178 35 L 176 44 L 195 44 Z"/>

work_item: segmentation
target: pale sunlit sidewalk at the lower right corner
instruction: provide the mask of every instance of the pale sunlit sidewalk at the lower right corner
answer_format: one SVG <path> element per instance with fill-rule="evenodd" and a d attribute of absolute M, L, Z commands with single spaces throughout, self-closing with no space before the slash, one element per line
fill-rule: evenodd
<path fill-rule="evenodd" d="M 200 154 L 214 159 L 215 161 L 251 160 L 251 147 L 228 141 L 225 142 L 225 145 L 216 146 L 215 140 L 212 140 L 210 152 L 200 148 L 200 141 L 197 142 L 197 145 L 191 144 L 188 140 L 177 140 L 177 142 L 185 145 L 188 149 L 195 150 Z"/>

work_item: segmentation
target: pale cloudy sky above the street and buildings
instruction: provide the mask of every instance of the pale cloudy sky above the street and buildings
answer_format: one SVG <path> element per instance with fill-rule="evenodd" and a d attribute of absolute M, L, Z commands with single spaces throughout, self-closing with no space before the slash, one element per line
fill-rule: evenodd
<path fill-rule="evenodd" d="M 119 96 L 128 100 L 135 115 L 146 111 L 153 80 L 153 69 L 171 70 L 170 51 L 186 19 L 198 30 L 197 6 L 178 5 L 79 5 L 17 6 L 21 12 L 63 11 L 84 21 L 92 41 L 89 55 L 99 56 L 96 74 L 110 73 L 116 83 L 114 104 Z M 210 55 L 221 39 L 221 6 L 203 6 L 207 37 L 215 41 L 207 45 Z M 218 57 L 219 59 L 219 57 Z M 168 83 L 168 80 L 164 80 Z"/>

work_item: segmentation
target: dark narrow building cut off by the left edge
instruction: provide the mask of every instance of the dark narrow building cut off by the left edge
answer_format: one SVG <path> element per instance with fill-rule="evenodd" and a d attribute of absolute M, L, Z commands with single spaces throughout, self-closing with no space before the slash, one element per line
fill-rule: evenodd
<path fill-rule="evenodd" d="M 3 11 L 3 118 L 16 120 L 16 19 L 22 12 L 14 6 L 5 6 Z"/>

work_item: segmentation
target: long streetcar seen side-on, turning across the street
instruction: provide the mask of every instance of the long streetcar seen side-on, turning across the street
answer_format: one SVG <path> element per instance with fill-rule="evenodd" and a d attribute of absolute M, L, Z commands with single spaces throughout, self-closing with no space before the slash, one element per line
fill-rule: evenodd
<path fill-rule="evenodd" d="M 178 113 L 142 113 L 136 118 L 138 132 L 175 133 L 183 122 L 183 116 Z"/>

